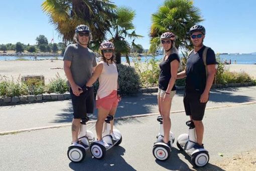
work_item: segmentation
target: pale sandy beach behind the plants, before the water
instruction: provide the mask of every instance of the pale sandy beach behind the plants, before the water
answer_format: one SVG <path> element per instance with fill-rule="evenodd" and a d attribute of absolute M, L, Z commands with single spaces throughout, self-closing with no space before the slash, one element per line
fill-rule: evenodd
<path fill-rule="evenodd" d="M 133 66 L 133 63 L 131 65 Z M 225 65 L 225 67 L 230 71 L 244 71 L 256 78 L 256 65 L 231 64 Z M 0 61 L 0 79 L 3 76 L 17 80 L 23 75 L 44 75 L 45 83 L 47 84 L 51 79 L 56 78 L 58 74 L 62 78 L 66 78 L 62 60 L 54 60 L 53 62 L 50 60 Z"/>

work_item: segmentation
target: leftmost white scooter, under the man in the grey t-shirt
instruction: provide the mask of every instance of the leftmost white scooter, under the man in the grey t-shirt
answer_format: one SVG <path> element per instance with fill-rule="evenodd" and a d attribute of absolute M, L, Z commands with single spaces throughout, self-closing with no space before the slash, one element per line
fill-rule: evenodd
<path fill-rule="evenodd" d="M 80 143 L 71 144 L 68 147 L 68 158 L 73 162 L 81 162 L 84 159 L 86 150 L 90 148 L 90 144 L 94 140 L 93 133 L 86 129 L 86 122 L 88 120 L 89 117 L 86 117 L 80 121 L 80 131 L 78 134 L 78 141 Z"/>

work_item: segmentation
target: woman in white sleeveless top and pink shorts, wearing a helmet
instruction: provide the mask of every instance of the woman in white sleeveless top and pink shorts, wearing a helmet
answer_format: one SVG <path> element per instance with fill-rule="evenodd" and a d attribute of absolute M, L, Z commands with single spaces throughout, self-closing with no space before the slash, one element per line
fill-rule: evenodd
<path fill-rule="evenodd" d="M 101 61 L 97 64 L 95 72 L 86 83 L 87 87 L 99 78 L 99 88 L 96 94 L 96 108 L 98 109 L 98 118 L 95 125 L 97 140 L 106 148 L 109 145 L 102 139 L 103 123 L 108 115 L 115 115 L 118 102 L 121 100 L 119 94 L 119 85 L 117 82 L 118 72 L 114 60 L 114 44 L 112 42 L 103 42 L 100 44 L 102 54 Z M 113 134 L 113 120 L 111 124 L 111 132 L 113 140 L 119 140 L 120 137 L 115 137 Z"/>

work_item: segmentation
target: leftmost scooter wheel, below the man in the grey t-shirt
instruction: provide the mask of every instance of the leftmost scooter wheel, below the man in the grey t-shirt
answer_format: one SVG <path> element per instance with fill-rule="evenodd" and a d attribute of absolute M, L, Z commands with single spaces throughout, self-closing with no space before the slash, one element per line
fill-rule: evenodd
<path fill-rule="evenodd" d="M 73 162 L 81 162 L 85 155 L 85 149 L 79 146 L 71 146 L 68 148 L 68 158 Z"/>

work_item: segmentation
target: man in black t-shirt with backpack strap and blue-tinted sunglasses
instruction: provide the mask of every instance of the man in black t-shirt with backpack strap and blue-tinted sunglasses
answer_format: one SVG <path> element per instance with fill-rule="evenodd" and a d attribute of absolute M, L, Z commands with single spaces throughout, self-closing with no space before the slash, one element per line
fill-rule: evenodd
<path fill-rule="evenodd" d="M 205 66 L 203 51 L 206 46 L 203 45 L 205 38 L 205 28 L 203 26 L 195 25 L 190 28 L 189 33 L 194 49 L 187 58 L 185 70 L 177 74 L 177 79 L 186 76 L 183 99 L 185 112 L 195 124 L 197 137 L 196 146 L 203 148 L 204 125 L 202 119 L 214 79 L 216 58 L 214 51 L 209 48 L 206 53 L 207 66 Z"/>

